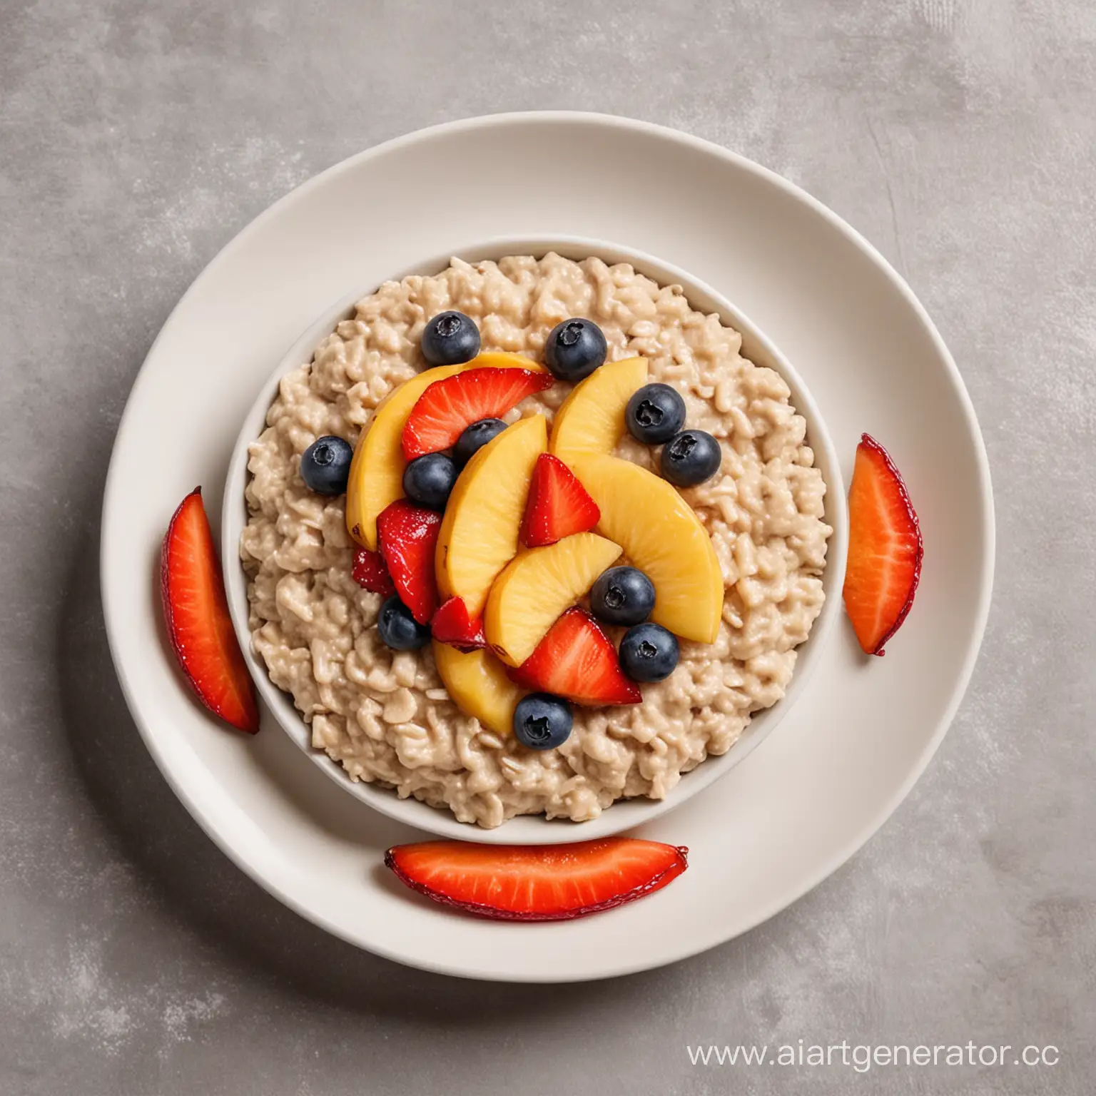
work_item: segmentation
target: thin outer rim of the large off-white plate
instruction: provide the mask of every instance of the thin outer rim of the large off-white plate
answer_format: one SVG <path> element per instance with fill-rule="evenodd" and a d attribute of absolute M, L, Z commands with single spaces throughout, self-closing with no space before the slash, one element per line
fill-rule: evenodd
<path fill-rule="evenodd" d="M 196 800 L 193 800 L 189 795 L 186 795 L 179 781 L 176 780 L 174 774 L 169 766 L 164 763 L 163 755 L 156 742 L 155 737 L 150 733 L 148 723 L 146 722 L 144 716 L 141 715 L 137 703 L 136 703 L 136 690 L 133 686 L 133 682 L 129 676 L 129 672 L 125 663 L 121 658 L 121 640 L 119 636 L 122 633 L 122 621 L 119 621 L 115 615 L 115 610 L 112 609 L 112 605 L 116 604 L 114 598 L 111 596 L 113 589 L 113 580 L 109 574 L 107 567 L 107 522 L 109 517 L 114 509 L 114 495 L 116 493 L 116 483 L 119 478 L 118 467 L 119 467 L 119 455 L 118 455 L 118 438 L 122 436 L 126 426 L 128 425 L 129 419 L 136 413 L 135 408 L 138 399 L 142 396 L 145 388 L 151 384 L 150 374 L 146 370 L 145 366 L 148 361 L 153 356 L 153 354 L 159 349 L 161 342 L 165 341 L 168 334 L 172 333 L 174 323 L 178 320 L 178 316 L 183 309 L 183 307 L 190 301 L 192 295 L 194 295 L 199 287 L 205 285 L 206 279 L 213 276 L 213 272 L 219 267 L 221 262 L 224 262 L 226 253 L 229 249 L 232 249 L 237 243 L 244 240 L 249 240 L 252 233 L 258 232 L 261 228 L 265 227 L 266 222 L 278 216 L 284 208 L 286 208 L 292 202 L 297 201 L 300 197 L 309 194 L 315 187 L 321 185 L 330 178 L 350 171 L 352 169 L 358 168 L 363 163 L 367 163 L 373 159 L 380 158 L 392 151 L 400 150 L 402 148 L 429 141 L 443 134 L 453 135 L 464 132 L 468 132 L 477 128 L 489 128 L 492 126 L 504 126 L 512 124 L 525 124 L 525 125 L 544 125 L 544 124 L 559 124 L 559 123 L 572 123 L 589 126 L 607 126 L 610 128 L 621 129 L 648 137 L 660 138 L 670 144 L 677 145 L 694 151 L 699 151 L 708 156 L 715 157 L 716 159 L 722 160 L 740 171 L 746 174 L 753 175 L 761 181 L 775 186 L 776 189 L 783 191 L 786 195 L 792 199 L 803 204 L 807 208 L 818 214 L 824 221 L 826 221 L 831 228 L 838 232 L 842 237 L 848 240 L 857 250 L 859 250 L 864 255 L 866 255 L 872 264 L 878 269 L 880 274 L 884 275 L 893 285 L 893 287 L 899 292 L 901 297 L 904 299 L 905 304 L 911 308 L 923 329 L 929 336 L 929 341 L 943 362 L 945 366 L 945 372 L 947 380 L 955 393 L 958 408 L 962 414 L 963 421 L 967 425 L 970 439 L 973 443 L 973 456 L 975 458 L 977 467 L 977 480 L 979 484 L 979 499 L 981 504 L 980 520 L 982 527 L 984 529 L 985 540 L 982 551 L 981 560 L 981 582 L 978 590 L 975 610 L 971 620 L 971 641 L 969 643 L 966 658 L 962 664 L 958 667 L 958 674 L 955 680 L 951 693 L 947 698 L 947 703 L 944 706 L 943 716 L 937 720 L 937 724 L 933 731 L 933 734 L 927 740 L 924 749 L 922 750 L 916 762 L 911 766 L 910 772 L 906 774 L 905 779 L 898 786 L 893 795 L 891 795 L 882 807 L 877 810 L 863 825 L 857 827 L 856 835 L 849 841 L 845 842 L 843 846 L 836 850 L 833 855 L 826 858 L 815 867 L 813 871 L 806 872 L 803 879 L 797 881 L 796 884 L 788 887 L 785 892 L 783 892 L 777 898 L 773 899 L 769 903 L 762 906 L 756 915 L 752 918 L 747 918 L 744 924 L 742 924 L 739 929 L 733 934 L 733 936 L 719 937 L 718 939 L 709 940 L 707 938 L 701 939 L 695 946 L 687 947 L 686 949 L 675 954 L 671 959 L 659 959 L 655 961 L 646 960 L 639 958 L 632 962 L 617 963 L 610 968 L 597 969 L 590 972 L 585 972 L 581 978 L 553 978 L 550 974 L 545 975 L 529 975 L 529 974 L 512 974 L 510 972 L 482 972 L 482 971 L 469 971 L 467 968 L 460 968 L 455 963 L 447 962 L 436 962 L 436 961 L 422 961 L 418 957 L 410 956 L 400 952 L 396 948 L 389 948 L 385 945 L 374 945 L 374 944 L 363 944 L 359 939 L 352 936 L 350 933 L 344 931 L 341 926 L 334 924 L 330 917 L 317 912 L 311 909 L 306 909 L 302 902 L 299 902 L 292 894 L 287 893 L 281 886 L 265 878 L 262 872 L 253 867 L 248 860 L 246 860 L 241 854 L 237 852 L 233 844 L 228 841 L 222 841 L 219 833 L 214 826 L 213 821 L 207 817 L 206 811 L 202 804 Z M 933 756 L 939 747 L 945 734 L 951 726 L 955 719 L 956 712 L 959 708 L 960 703 L 967 692 L 970 684 L 971 676 L 973 674 L 974 665 L 978 661 L 978 657 L 981 650 L 982 640 L 985 635 L 985 627 L 989 619 L 991 597 L 993 591 L 993 579 L 995 570 L 995 558 L 996 558 L 996 525 L 994 517 L 994 500 L 993 500 L 993 488 L 992 478 L 990 472 L 990 461 L 989 455 L 985 448 L 985 441 L 982 436 L 981 429 L 978 423 L 977 415 L 974 413 L 973 403 L 970 398 L 970 393 L 963 384 L 962 376 L 959 373 L 958 366 L 951 356 L 947 344 L 944 342 L 936 324 L 933 322 L 932 317 L 929 317 L 924 305 L 918 300 L 916 295 L 913 293 L 910 285 L 906 283 L 905 278 L 887 261 L 887 259 L 864 237 L 857 231 L 852 225 L 845 221 L 836 213 L 830 209 L 827 206 L 823 205 L 818 198 L 813 197 L 802 187 L 785 179 L 783 175 L 777 174 L 770 169 L 757 163 L 741 153 L 734 152 L 721 145 L 710 141 L 703 137 L 697 137 L 693 134 L 684 133 L 680 129 L 674 129 L 670 126 L 660 125 L 657 123 L 640 121 L 636 118 L 630 118 L 624 115 L 606 114 L 597 112 L 586 112 L 586 111 L 510 111 L 500 112 L 494 114 L 476 115 L 464 118 L 454 119 L 450 122 L 437 123 L 435 125 L 425 126 L 421 129 L 412 130 L 411 133 L 403 134 L 397 137 L 389 138 L 388 140 L 381 141 L 369 148 L 364 149 L 361 152 L 354 153 L 328 168 L 320 171 L 316 175 L 306 180 L 299 186 L 294 187 L 287 194 L 283 195 L 272 205 L 262 210 L 256 217 L 249 221 L 239 232 L 235 233 L 225 244 L 217 251 L 213 259 L 206 264 L 206 266 L 198 273 L 194 281 L 187 286 L 186 290 L 182 294 L 179 300 L 175 302 L 174 307 L 171 309 L 163 324 L 161 326 L 156 339 L 152 341 L 148 353 L 145 355 L 145 359 L 141 363 L 141 367 L 137 373 L 134 384 L 129 390 L 129 395 L 126 398 L 125 408 L 118 420 L 117 431 L 115 433 L 115 441 L 111 450 L 111 459 L 107 466 L 106 480 L 103 490 L 103 505 L 101 510 L 100 520 L 100 538 L 99 538 L 99 549 L 100 549 L 100 560 L 99 560 L 99 572 L 100 572 L 100 592 L 103 603 L 103 618 L 106 631 L 107 647 L 111 652 L 111 660 L 114 664 L 115 674 L 118 678 L 118 684 L 122 688 L 123 696 L 126 701 L 126 706 L 129 709 L 130 717 L 133 718 L 135 724 L 137 726 L 138 732 L 145 743 L 146 749 L 156 762 L 161 775 L 164 777 L 168 786 L 172 789 L 179 800 L 186 808 L 187 813 L 197 822 L 202 830 L 209 836 L 214 844 L 238 867 L 242 870 L 250 879 L 262 887 L 267 893 L 272 894 L 283 904 L 292 909 L 294 912 L 302 916 L 305 920 L 311 922 L 323 928 L 326 932 L 331 933 L 333 936 L 345 940 L 354 945 L 355 947 L 362 947 L 365 950 L 369 950 L 375 955 L 381 956 L 386 959 L 391 959 L 396 962 L 400 962 L 407 966 L 416 967 L 419 969 L 434 971 L 437 973 L 450 974 L 460 978 L 470 978 L 487 981 L 500 981 L 500 982 L 517 982 L 517 983 L 550 983 L 550 982 L 581 982 L 581 981 L 596 981 L 605 978 L 615 978 L 625 974 L 636 973 L 643 970 L 649 970 L 658 968 L 660 966 L 665 966 L 670 962 L 676 962 L 682 959 L 687 959 L 692 956 L 698 955 L 701 951 L 707 950 L 710 947 L 715 947 L 720 943 L 727 943 L 727 940 L 740 936 L 757 925 L 767 921 L 775 914 L 779 913 L 781 910 L 787 909 L 789 905 L 798 901 L 804 894 L 813 890 L 819 883 L 836 871 L 843 864 L 852 858 L 859 849 L 864 847 L 865 844 L 876 834 L 879 829 L 886 823 L 891 814 L 898 809 L 898 807 L 909 796 L 911 789 L 921 778 L 925 772 L 928 763 L 932 761 Z"/>

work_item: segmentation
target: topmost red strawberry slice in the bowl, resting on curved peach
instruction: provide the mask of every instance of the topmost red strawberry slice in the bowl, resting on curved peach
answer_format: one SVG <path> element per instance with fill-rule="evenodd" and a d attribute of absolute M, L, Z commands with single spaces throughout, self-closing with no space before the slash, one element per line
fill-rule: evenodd
<path fill-rule="evenodd" d="M 526 396 L 552 385 L 550 373 L 533 369 L 466 369 L 435 380 L 419 397 L 403 427 L 403 456 L 452 448 L 465 429 L 480 419 L 499 419 Z"/>

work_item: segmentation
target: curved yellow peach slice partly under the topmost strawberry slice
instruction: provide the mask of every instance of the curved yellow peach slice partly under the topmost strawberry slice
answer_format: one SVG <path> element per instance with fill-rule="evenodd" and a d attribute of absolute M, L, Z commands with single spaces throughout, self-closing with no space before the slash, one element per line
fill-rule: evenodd
<path fill-rule="evenodd" d="M 492 351 L 464 365 L 441 365 L 406 380 L 373 413 L 354 450 L 346 484 L 346 528 L 366 548 L 377 547 L 377 515 L 403 496 L 403 425 L 419 397 L 435 381 L 465 369 L 545 369 L 520 354 Z"/>

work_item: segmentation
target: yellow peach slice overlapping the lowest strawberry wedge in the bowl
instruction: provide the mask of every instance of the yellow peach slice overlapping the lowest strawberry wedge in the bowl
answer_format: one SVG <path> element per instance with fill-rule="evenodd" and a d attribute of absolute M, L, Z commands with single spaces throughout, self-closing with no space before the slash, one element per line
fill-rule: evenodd
<path fill-rule="evenodd" d="M 507 665 L 520 666 L 563 609 L 619 556 L 619 545 L 593 533 L 575 533 L 545 548 L 520 551 L 487 601 L 483 628 L 491 649 Z"/>

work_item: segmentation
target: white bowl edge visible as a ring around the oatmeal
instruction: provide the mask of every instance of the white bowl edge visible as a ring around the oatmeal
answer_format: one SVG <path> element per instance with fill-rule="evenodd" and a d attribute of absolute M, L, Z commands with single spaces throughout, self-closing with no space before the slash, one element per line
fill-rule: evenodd
<path fill-rule="evenodd" d="M 294 343 L 285 357 L 263 385 L 255 402 L 243 420 L 240 434 L 232 450 L 225 484 L 224 510 L 221 514 L 221 559 L 225 568 L 225 586 L 232 624 L 243 648 L 248 666 L 266 707 L 281 723 L 285 732 L 344 791 L 363 803 L 396 819 L 407 825 L 416 826 L 444 837 L 477 841 L 489 844 L 549 845 L 569 841 L 586 841 L 631 830 L 673 810 L 697 792 L 709 787 L 731 768 L 743 762 L 773 732 L 784 716 L 790 710 L 803 692 L 812 670 L 819 661 L 820 652 L 830 635 L 834 619 L 841 609 L 841 587 L 845 575 L 847 515 L 845 490 L 836 453 L 818 407 L 802 379 L 776 349 L 770 340 L 739 309 L 721 297 L 715 289 L 692 277 L 685 271 L 652 255 L 633 251 L 619 244 L 580 237 L 495 238 L 484 243 L 460 248 L 455 252 L 435 256 L 416 263 L 414 267 L 392 275 L 393 279 L 410 274 L 436 274 L 444 270 L 452 255 L 477 262 L 501 259 L 504 255 L 543 255 L 556 251 L 568 259 L 585 259 L 596 255 L 607 263 L 627 262 L 661 285 L 681 285 L 692 306 L 704 312 L 719 312 L 721 319 L 742 334 L 742 354 L 758 365 L 775 369 L 791 389 L 791 402 L 807 420 L 807 441 L 814 450 L 815 465 L 826 483 L 825 520 L 833 527 L 826 551 L 826 568 L 823 574 L 825 604 L 814 621 L 808 640 L 798 649 L 796 671 L 784 698 L 772 708 L 757 712 L 750 721 L 738 742 L 722 756 L 708 757 L 697 768 L 686 773 L 665 799 L 620 800 L 612 808 L 589 822 L 571 822 L 564 819 L 546 820 L 543 815 L 521 815 L 504 822 L 493 830 L 484 830 L 466 822 L 458 822 L 446 810 L 429 807 L 416 799 L 401 799 L 391 789 L 374 784 L 351 780 L 341 765 L 333 762 L 322 751 L 311 745 L 311 732 L 293 699 L 271 681 L 266 667 L 251 649 L 251 632 L 248 627 L 247 575 L 240 563 L 240 535 L 248 518 L 244 488 L 248 482 L 248 447 L 259 437 L 265 425 L 266 412 L 277 392 L 282 377 L 290 369 L 311 361 L 312 352 L 335 324 L 353 315 L 354 304 L 372 293 L 376 286 L 363 286 L 324 312 Z"/>

